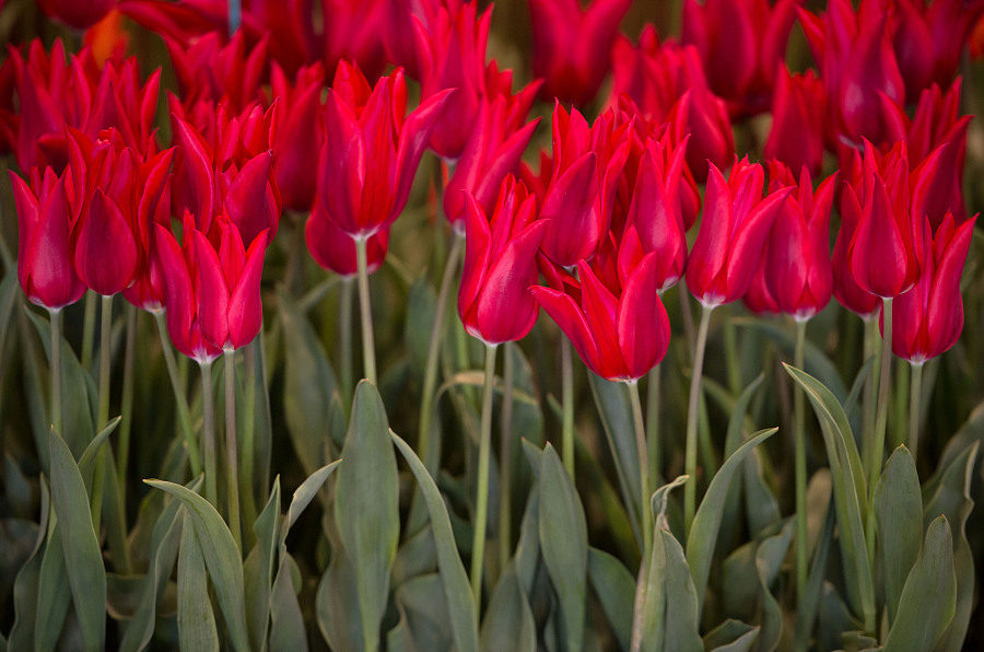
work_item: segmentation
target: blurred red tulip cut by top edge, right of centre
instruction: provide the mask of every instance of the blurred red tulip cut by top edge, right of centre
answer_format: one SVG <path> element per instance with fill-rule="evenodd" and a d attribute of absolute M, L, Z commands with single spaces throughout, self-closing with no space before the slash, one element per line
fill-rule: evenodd
<path fill-rule="evenodd" d="M 684 0 L 681 40 L 701 54 L 707 82 L 731 115 L 769 107 L 803 0 Z"/>

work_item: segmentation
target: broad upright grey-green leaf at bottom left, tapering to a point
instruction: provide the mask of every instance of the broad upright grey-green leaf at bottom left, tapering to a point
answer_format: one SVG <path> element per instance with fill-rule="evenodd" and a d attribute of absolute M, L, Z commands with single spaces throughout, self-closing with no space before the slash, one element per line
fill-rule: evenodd
<path fill-rule="evenodd" d="M 48 432 L 51 456 L 51 503 L 61 527 L 65 564 L 75 615 L 87 650 L 102 650 L 106 640 L 106 569 L 92 527 L 82 474 L 68 444 Z"/>

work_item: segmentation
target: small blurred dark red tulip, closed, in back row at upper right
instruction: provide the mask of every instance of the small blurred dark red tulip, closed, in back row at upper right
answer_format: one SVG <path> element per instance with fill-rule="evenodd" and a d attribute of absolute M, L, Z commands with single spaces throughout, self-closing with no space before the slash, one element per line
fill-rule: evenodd
<path fill-rule="evenodd" d="M 792 170 L 806 166 L 810 174 L 820 174 L 827 116 L 823 83 L 811 70 L 790 74 L 785 66 L 776 77 L 765 158 L 782 161 Z"/>

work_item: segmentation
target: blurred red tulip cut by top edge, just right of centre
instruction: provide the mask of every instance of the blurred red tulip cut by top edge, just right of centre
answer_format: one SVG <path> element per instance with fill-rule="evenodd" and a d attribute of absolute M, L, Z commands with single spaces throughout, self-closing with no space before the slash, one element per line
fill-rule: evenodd
<path fill-rule="evenodd" d="M 631 0 L 530 0 L 532 70 L 546 80 L 542 95 L 587 105 L 608 74 L 619 23 Z"/>

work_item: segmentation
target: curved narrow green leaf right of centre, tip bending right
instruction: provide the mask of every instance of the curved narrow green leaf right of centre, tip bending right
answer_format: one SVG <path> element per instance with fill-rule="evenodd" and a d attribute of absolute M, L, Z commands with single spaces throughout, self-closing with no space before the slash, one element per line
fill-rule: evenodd
<path fill-rule="evenodd" d="M 704 602 L 704 592 L 707 589 L 707 575 L 711 573 L 711 561 L 714 558 L 714 545 L 717 543 L 717 532 L 721 527 L 721 519 L 724 504 L 735 471 L 740 468 L 745 457 L 760 443 L 778 431 L 777 428 L 760 430 L 749 438 L 735 453 L 728 457 L 714 478 L 707 492 L 701 500 L 693 525 L 687 538 L 687 561 L 693 572 L 693 584 L 696 589 L 698 604 Z M 700 610 L 700 608 L 699 608 Z"/>

